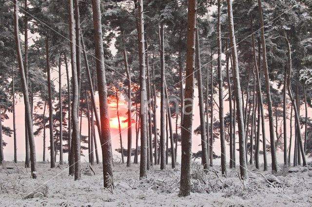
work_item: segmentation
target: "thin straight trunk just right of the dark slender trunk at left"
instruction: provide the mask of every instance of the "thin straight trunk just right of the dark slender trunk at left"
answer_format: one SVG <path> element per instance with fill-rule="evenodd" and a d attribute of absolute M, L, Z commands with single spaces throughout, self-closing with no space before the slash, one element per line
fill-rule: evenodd
<path fill-rule="evenodd" d="M 59 164 L 63 164 L 63 108 L 62 108 L 61 53 L 59 54 Z"/>

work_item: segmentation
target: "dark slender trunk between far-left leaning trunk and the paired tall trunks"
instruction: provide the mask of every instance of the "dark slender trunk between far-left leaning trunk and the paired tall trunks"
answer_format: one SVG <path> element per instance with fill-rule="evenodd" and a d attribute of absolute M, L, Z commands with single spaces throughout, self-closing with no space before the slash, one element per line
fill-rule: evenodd
<path fill-rule="evenodd" d="M 55 168 L 54 155 L 54 135 L 53 135 L 53 103 L 52 103 L 52 87 L 51 87 L 51 72 L 50 72 L 50 58 L 49 58 L 49 38 L 45 38 L 46 61 L 47 61 L 47 75 L 48 75 L 48 92 L 49 92 L 49 131 L 50 131 L 50 161 L 51 168 Z"/>

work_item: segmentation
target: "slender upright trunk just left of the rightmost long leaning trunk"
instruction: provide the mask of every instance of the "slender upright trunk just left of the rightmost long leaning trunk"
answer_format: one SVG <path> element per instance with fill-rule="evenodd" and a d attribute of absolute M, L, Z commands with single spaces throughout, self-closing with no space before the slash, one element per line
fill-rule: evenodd
<path fill-rule="evenodd" d="M 287 67 L 284 72 L 283 88 L 283 132 L 284 132 L 284 165 L 287 165 L 287 116 L 286 116 L 286 88 L 287 88 Z"/>

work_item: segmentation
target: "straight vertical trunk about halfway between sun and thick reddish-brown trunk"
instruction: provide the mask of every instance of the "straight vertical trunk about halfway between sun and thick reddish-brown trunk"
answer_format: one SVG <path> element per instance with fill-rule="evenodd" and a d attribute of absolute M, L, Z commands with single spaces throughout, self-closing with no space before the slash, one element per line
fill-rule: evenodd
<path fill-rule="evenodd" d="M 160 169 L 165 168 L 165 45 L 164 45 L 164 24 L 160 24 L 159 43 L 160 43 L 160 65 L 161 65 L 161 80 L 160 80 Z"/>

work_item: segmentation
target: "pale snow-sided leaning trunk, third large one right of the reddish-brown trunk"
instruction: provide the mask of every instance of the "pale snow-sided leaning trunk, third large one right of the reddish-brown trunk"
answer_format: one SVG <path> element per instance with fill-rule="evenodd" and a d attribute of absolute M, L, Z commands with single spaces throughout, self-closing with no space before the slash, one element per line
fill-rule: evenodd
<path fill-rule="evenodd" d="M 243 120 L 243 105 L 242 105 L 242 94 L 240 89 L 239 80 L 239 69 L 238 69 L 238 59 L 236 51 L 236 41 L 234 34 L 234 22 L 233 22 L 233 11 L 232 11 L 232 0 L 227 0 L 228 3 L 228 18 L 229 18 L 229 30 L 230 30 L 230 42 L 232 48 L 233 57 L 233 80 L 235 88 L 235 99 L 237 108 L 237 121 L 238 121 L 238 135 L 239 135 L 239 164 L 240 173 L 243 179 L 248 177 L 247 174 L 247 164 L 246 164 L 246 154 L 245 154 L 245 131 L 244 131 L 244 120 Z"/>

